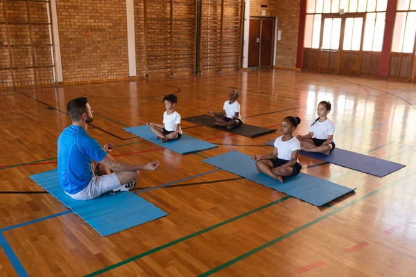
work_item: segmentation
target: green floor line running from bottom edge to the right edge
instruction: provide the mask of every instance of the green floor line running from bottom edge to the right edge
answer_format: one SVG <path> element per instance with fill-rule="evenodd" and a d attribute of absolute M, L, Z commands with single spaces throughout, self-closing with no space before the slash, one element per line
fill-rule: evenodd
<path fill-rule="evenodd" d="M 295 235 L 295 233 L 299 233 L 300 231 L 303 231 L 304 229 L 313 226 L 315 224 L 317 224 L 318 222 L 321 222 L 322 220 L 330 217 L 331 215 L 335 215 L 336 213 L 339 213 L 340 211 L 345 210 L 346 208 L 349 208 L 350 206 L 353 206 L 354 204 L 363 201 L 364 199 L 367 199 L 368 197 L 375 195 L 376 193 L 381 192 L 381 190 L 385 190 L 386 188 L 390 188 L 390 186 L 394 186 L 395 184 L 399 183 L 399 181 L 403 181 L 404 179 L 408 179 L 409 177 L 412 177 L 413 175 L 416 175 L 416 172 L 413 172 L 412 174 L 406 176 L 406 177 L 402 177 L 400 179 L 398 179 L 397 181 L 394 181 L 390 184 L 387 184 L 385 186 L 382 186 L 381 188 L 378 188 L 374 191 L 372 191 L 371 193 L 368 193 L 367 195 L 364 195 L 363 197 L 360 197 L 356 200 L 354 200 L 353 202 L 350 202 L 349 204 L 345 204 L 344 206 L 340 207 L 340 208 L 336 208 L 335 210 L 331 211 L 330 213 L 327 213 L 326 215 L 322 215 L 322 217 L 318 217 L 316 220 L 312 220 L 311 222 L 304 224 L 300 227 L 298 227 L 297 229 L 294 229 L 293 231 L 290 231 L 284 235 L 281 235 L 279 238 L 275 238 L 274 240 L 270 240 L 270 242 L 266 242 L 265 244 L 252 249 L 250 251 L 248 251 L 247 253 L 244 253 L 241 256 L 238 256 L 232 260 L 229 260 L 228 262 L 223 263 L 223 265 L 220 265 L 218 267 L 215 267 L 214 269 L 211 269 L 203 274 L 201 274 L 198 277 L 203 277 L 203 276 L 210 276 L 211 274 L 214 274 L 220 270 L 225 269 L 226 267 L 229 267 L 230 265 L 234 265 L 236 262 L 239 262 L 241 260 L 244 260 L 245 258 L 248 258 L 249 256 L 252 256 L 254 253 L 257 253 L 263 249 L 266 249 L 267 247 L 272 246 L 273 244 L 280 242 L 281 240 L 284 240 L 285 238 L 289 238 L 291 235 Z"/>

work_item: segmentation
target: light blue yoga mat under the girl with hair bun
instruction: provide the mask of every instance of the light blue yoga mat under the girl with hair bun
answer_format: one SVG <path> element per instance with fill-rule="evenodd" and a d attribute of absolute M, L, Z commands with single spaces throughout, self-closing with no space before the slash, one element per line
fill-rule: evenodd
<path fill-rule="evenodd" d="M 304 200 L 314 206 L 322 206 L 355 190 L 355 188 L 346 188 L 304 173 L 295 177 L 286 177 L 283 184 L 281 184 L 279 181 L 259 173 L 256 162 L 250 156 L 238 151 L 227 152 L 202 161 L 268 188 L 279 190 L 281 193 Z"/>

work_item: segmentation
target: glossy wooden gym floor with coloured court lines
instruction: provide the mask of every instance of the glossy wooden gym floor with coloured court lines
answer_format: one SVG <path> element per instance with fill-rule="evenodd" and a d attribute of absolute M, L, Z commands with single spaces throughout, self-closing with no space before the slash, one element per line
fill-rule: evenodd
<path fill-rule="evenodd" d="M 181 156 L 123 131 L 161 121 L 168 93 L 184 118 L 220 111 L 232 88 L 245 123 L 300 116 L 296 134 L 329 100 L 339 148 L 407 166 L 379 178 L 300 157 L 302 172 L 357 188 L 318 208 L 201 162 L 266 154 L 279 132 L 248 139 L 182 121 L 184 133 L 219 147 Z M 116 159 L 161 162 L 138 187 L 171 182 L 141 194 L 168 216 L 103 238 L 29 179 L 56 167 L 67 102 L 80 96 L 94 110 L 89 134 L 114 143 Z M 1 276 L 416 276 L 415 84 L 261 70 L 20 88 L 0 100 Z"/>

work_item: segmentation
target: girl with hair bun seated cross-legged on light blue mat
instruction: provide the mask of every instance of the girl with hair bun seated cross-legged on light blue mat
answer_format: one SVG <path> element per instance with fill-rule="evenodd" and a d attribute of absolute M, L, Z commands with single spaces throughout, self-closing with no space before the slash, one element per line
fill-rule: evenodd
<path fill-rule="evenodd" d="M 283 136 L 276 139 L 273 151 L 265 156 L 252 157 L 256 161 L 259 172 L 281 183 L 283 183 L 283 177 L 296 176 L 300 173 L 302 166 L 297 159 L 300 143 L 292 134 L 299 123 L 300 118 L 293 116 L 288 116 L 281 121 L 280 132 Z"/>

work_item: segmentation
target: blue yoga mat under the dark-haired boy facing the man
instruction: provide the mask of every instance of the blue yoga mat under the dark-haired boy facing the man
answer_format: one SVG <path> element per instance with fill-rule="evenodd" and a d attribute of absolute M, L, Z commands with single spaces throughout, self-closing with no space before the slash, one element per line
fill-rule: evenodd
<path fill-rule="evenodd" d="M 207 141 L 202 141 L 186 134 L 182 134 L 182 137 L 175 141 L 166 141 L 166 143 L 162 143 L 160 139 L 155 139 L 156 135 L 150 130 L 148 125 L 128 127 L 125 128 L 125 131 L 182 155 L 218 147 L 215 144 L 207 143 Z"/>

